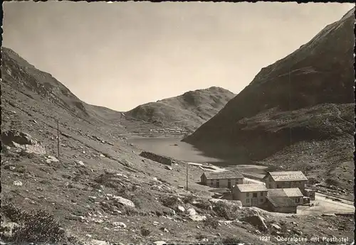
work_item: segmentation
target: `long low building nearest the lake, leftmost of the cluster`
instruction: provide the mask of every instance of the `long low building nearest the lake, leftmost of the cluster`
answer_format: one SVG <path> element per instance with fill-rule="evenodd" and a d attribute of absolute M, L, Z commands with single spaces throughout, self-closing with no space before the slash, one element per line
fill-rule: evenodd
<path fill-rule="evenodd" d="M 239 185 L 244 182 L 244 176 L 239 172 L 205 172 L 200 177 L 201 183 L 210 187 L 227 187 Z"/>

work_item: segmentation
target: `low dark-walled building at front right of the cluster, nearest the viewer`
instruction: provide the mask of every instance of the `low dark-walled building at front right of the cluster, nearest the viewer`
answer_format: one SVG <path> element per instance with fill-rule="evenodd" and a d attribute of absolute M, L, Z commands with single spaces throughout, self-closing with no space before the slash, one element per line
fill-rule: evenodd
<path fill-rule="evenodd" d="M 297 189 L 298 188 L 293 188 Z M 293 197 L 288 197 L 288 195 L 300 195 L 301 192 L 299 190 L 288 190 L 288 189 L 270 189 L 268 190 L 267 197 L 266 197 L 266 207 L 269 211 L 271 212 L 282 212 L 282 213 L 297 213 L 297 203 L 295 202 L 295 199 Z M 300 204 L 303 203 L 303 195 L 301 199 L 298 197 L 298 202 Z"/>

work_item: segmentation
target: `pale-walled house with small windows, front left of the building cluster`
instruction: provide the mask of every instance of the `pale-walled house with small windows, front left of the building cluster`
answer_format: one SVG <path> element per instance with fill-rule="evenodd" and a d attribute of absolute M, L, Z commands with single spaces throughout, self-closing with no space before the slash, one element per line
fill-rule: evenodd
<path fill-rule="evenodd" d="M 242 206 L 258 207 L 266 202 L 267 188 L 261 184 L 235 185 L 232 189 L 233 200 L 240 200 Z"/>

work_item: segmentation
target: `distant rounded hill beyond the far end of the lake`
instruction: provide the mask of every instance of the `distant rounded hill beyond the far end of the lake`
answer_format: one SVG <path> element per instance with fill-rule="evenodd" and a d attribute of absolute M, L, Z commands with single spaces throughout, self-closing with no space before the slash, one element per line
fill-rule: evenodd
<path fill-rule="evenodd" d="M 125 115 L 159 127 L 178 127 L 194 131 L 211 119 L 235 95 L 221 87 L 209 87 L 142 104 L 127 111 Z"/>

